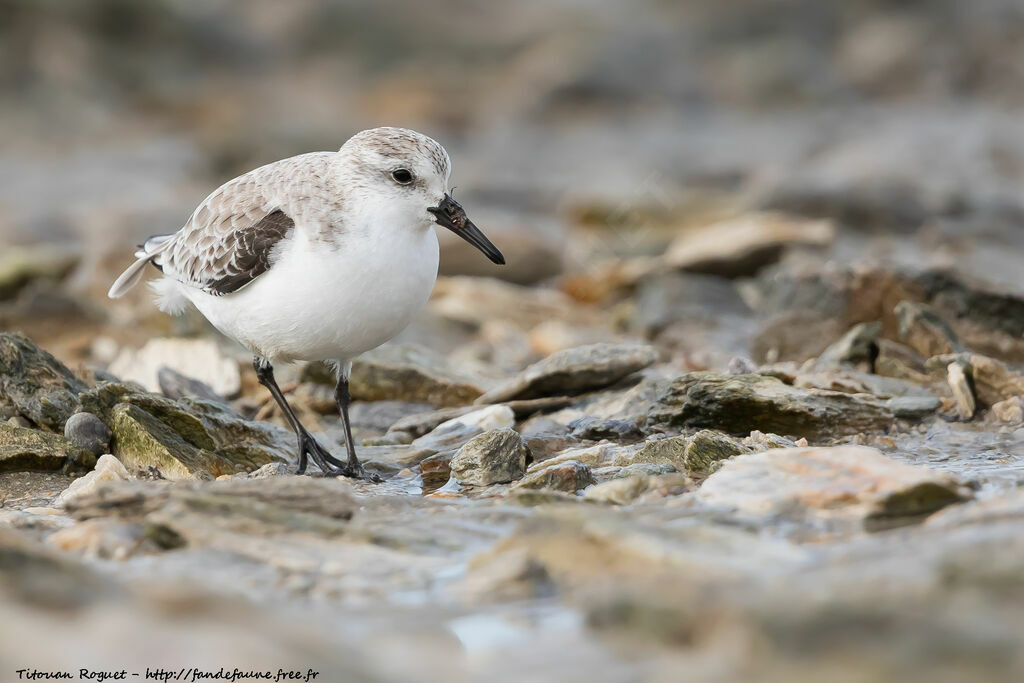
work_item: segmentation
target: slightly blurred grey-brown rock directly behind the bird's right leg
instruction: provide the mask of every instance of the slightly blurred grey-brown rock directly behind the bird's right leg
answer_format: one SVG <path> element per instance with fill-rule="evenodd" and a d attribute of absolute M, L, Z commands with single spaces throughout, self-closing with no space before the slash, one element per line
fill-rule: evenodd
<path fill-rule="evenodd" d="M 357 400 L 409 400 L 465 405 L 483 393 L 479 378 L 449 367 L 447 359 L 412 344 L 385 344 L 352 364 L 349 390 Z"/>

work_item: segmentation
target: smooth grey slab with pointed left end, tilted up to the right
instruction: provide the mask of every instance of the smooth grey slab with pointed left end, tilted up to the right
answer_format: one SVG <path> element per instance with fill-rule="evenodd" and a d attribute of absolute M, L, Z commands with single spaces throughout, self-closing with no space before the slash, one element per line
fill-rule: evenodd
<path fill-rule="evenodd" d="M 476 402 L 499 403 L 580 394 L 614 384 L 655 360 L 657 351 L 640 344 L 578 346 L 535 362 L 515 379 L 480 396 Z"/>

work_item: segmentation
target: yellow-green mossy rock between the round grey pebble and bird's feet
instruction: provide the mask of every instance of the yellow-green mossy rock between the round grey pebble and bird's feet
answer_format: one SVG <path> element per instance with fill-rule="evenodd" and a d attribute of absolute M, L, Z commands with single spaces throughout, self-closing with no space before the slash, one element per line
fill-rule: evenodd
<path fill-rule="evenodd" d="M 111 427 L 114 455 L 128 469 L 155 467 L 168 479 L 202 479 L 294 458 L 291 432 L 244 420 L 214 401 L 172 400 L 106 383 L 83 393 L 81 402 Z"/>

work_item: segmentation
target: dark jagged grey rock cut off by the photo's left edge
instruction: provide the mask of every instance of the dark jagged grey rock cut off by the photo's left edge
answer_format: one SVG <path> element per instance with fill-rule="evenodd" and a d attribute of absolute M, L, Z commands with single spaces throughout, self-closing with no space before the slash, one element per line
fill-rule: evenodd
<path fill-rule="evenodd" d="M 0 333 L 0 399 L 41 427 L 63 431 L 85 383 L 23 335 Z"/>

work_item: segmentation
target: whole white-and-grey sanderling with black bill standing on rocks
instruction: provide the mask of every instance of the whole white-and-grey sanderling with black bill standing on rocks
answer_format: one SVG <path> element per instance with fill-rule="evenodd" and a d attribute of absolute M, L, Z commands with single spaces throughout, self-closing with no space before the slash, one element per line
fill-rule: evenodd
<path fill-rule="evenodd" d="M 495 263 L 505 258 L 449 191 L 440 144 L 402 128 L 374 128 L 338 152 L 257 168 L 206 198 L 173 234 L 152 237 L 111 287 L 124 295 L 153 263 L 158 305 L 190 301 L 253 353 L 260 384 L 298 436 L 298 472 L 311 457 L 324 472 L 365 476 L 348 422 L 352 358 L 409 325 L 437 278 L 434 223 Z M 348 461 L 334 458 L 299 423 L 273 378 L 273 362 L 331 360 Z"/>

